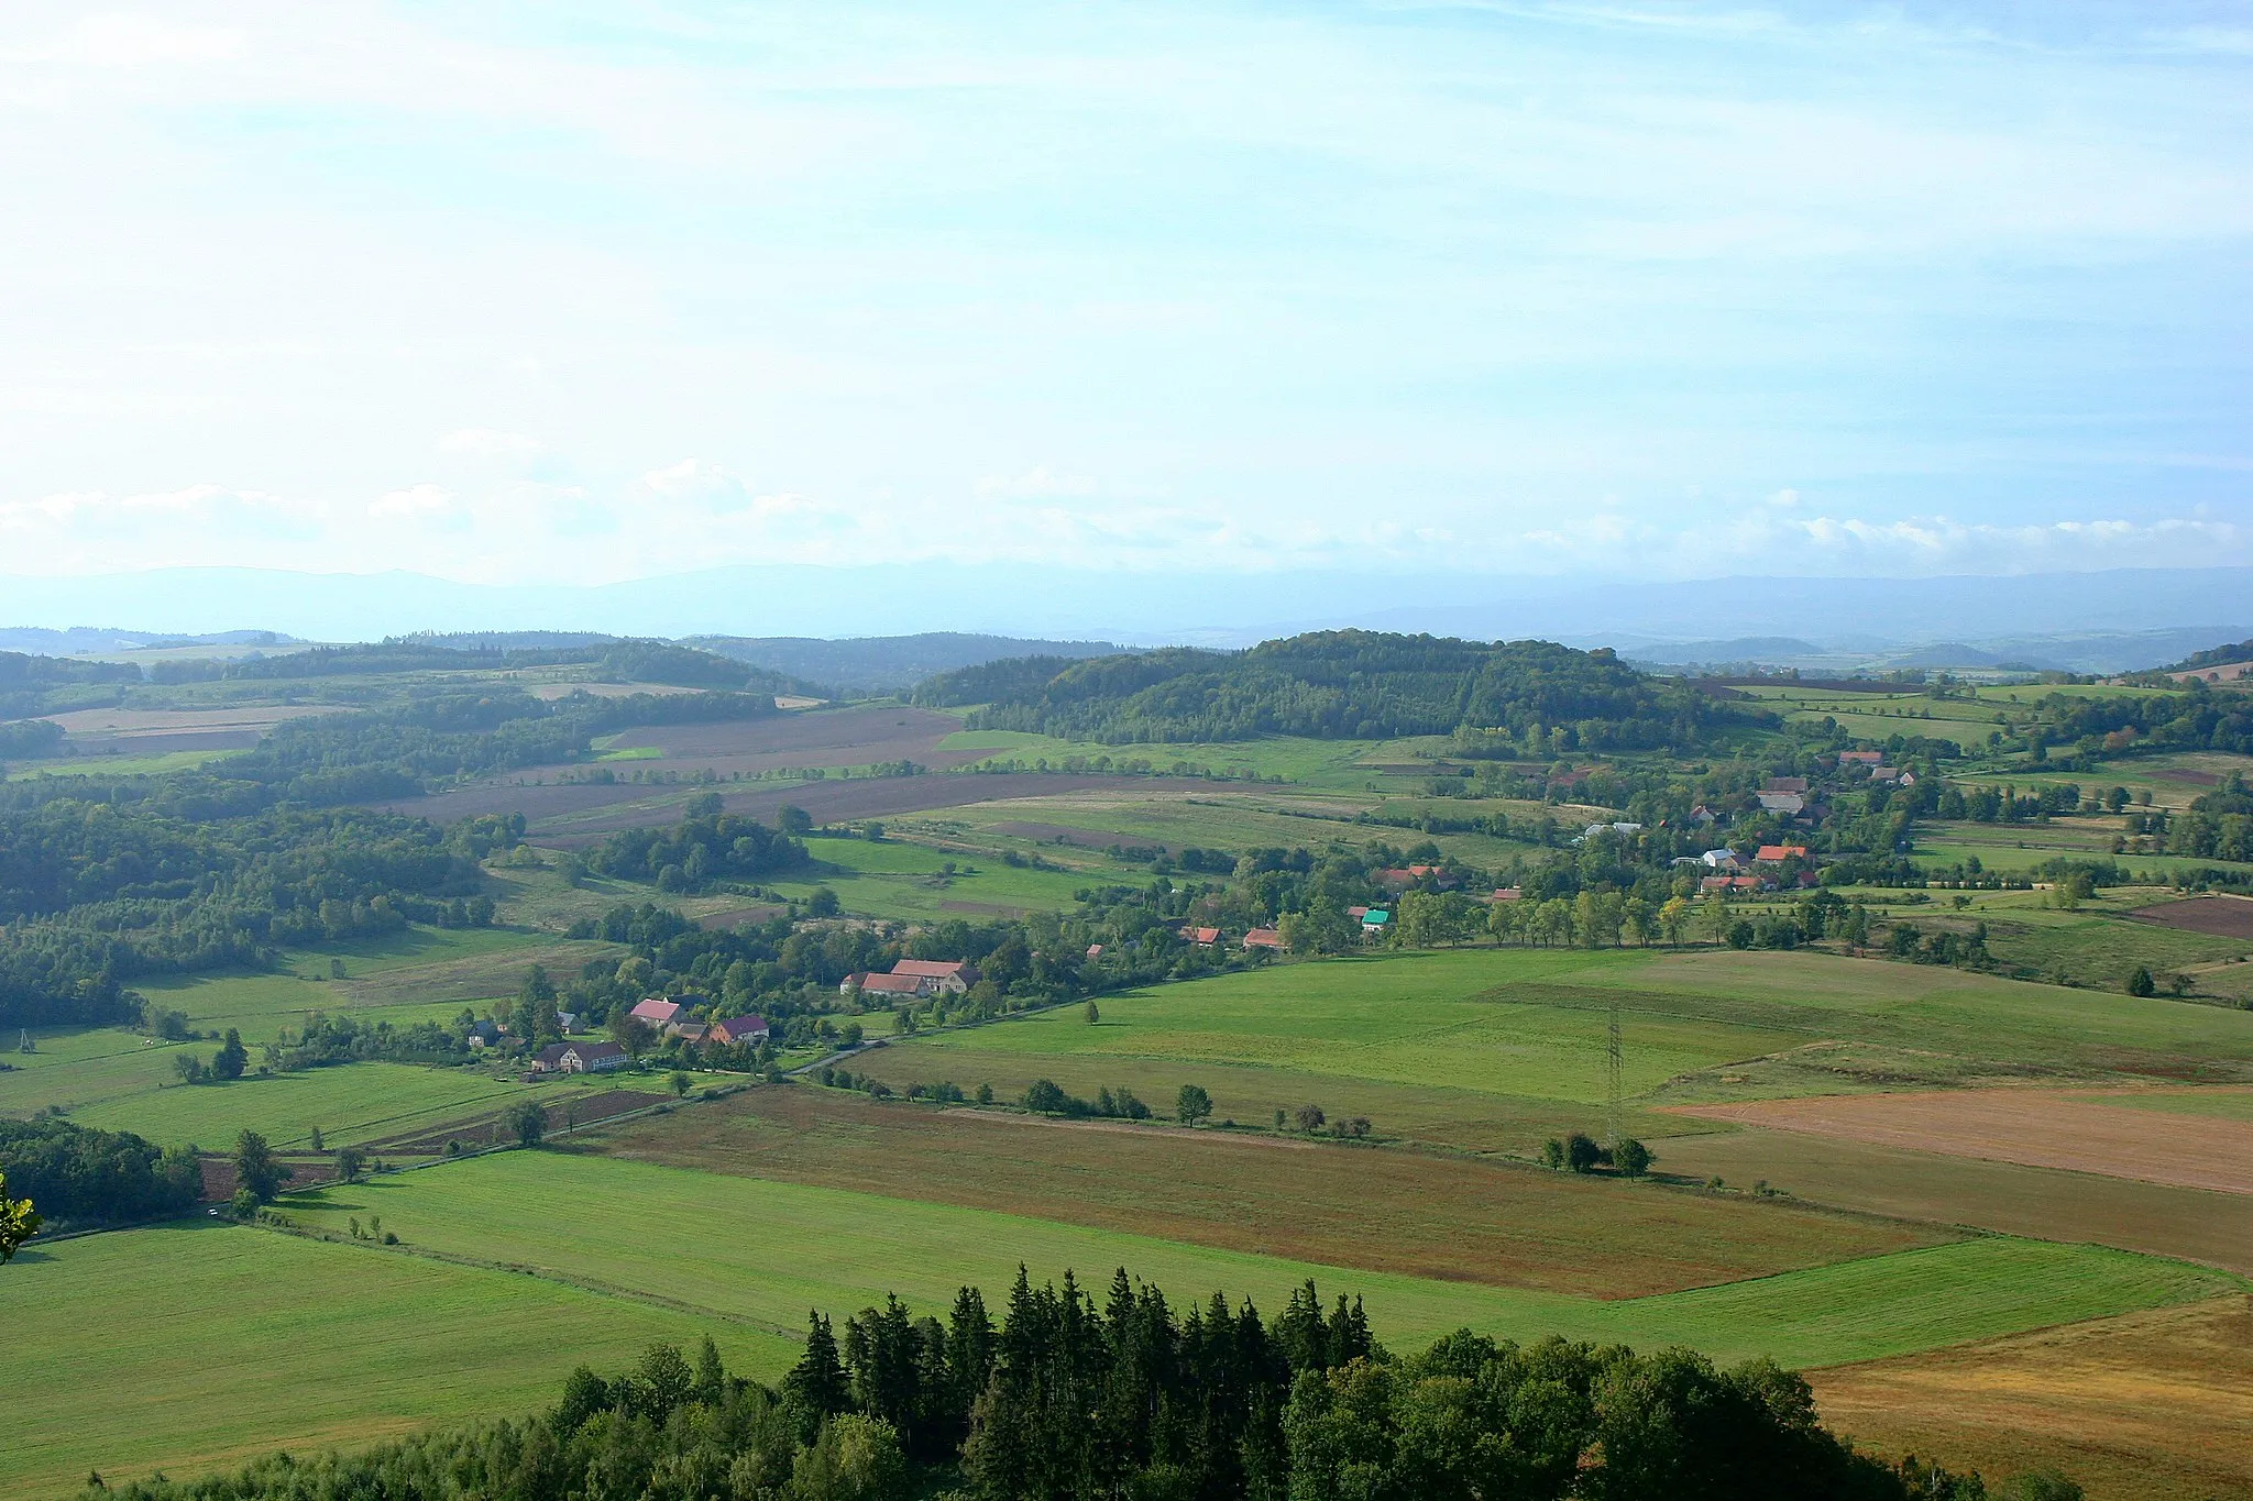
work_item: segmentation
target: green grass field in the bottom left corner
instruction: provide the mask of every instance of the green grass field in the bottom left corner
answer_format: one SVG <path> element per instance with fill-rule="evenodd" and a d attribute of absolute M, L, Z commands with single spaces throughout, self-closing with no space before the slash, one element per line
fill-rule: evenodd
<path fill-rule="evenodd" d="M 653 1341 L 710 1332 L 764 1375 L 795 1359 L 795 1341 L 703 1312 L 216 1222 L 25 1249 L 0 1328 L 9 1496 L 529 1413 L 572 1366 L 622 1368 Z"/>

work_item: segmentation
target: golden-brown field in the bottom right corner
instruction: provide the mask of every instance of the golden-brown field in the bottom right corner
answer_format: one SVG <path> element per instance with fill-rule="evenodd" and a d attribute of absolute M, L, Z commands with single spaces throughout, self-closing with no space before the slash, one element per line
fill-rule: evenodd
<path fill-rule="evenodd" d="M 2253 1298 L 1987 1339 L 1809 1375 L 1879 1454 L 2064 1469 L 2091 1501 L 2253 1499 Z M 1989 1492 L 1992 1494 L 1992 1492 Z"/>

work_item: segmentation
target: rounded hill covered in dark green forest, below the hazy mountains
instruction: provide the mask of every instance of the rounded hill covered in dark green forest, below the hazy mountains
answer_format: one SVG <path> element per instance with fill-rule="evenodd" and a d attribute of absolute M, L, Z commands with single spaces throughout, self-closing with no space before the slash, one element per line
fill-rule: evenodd
<path fill-rule="evenodd" d="M 1507 731 L 1528 754 L 1692 747 L 1753 718 L 1683 682 L 1638 673 L 1609 648 L 1370 630 L 1323 630 L 1244 653 L 1178 646 L 1084 662 L 989 662 L 928 680 L 915 702 L 978 704 L 973 729 L 1111 745 L 1264 734 L 1377 740 L 1476 727 Z"/>

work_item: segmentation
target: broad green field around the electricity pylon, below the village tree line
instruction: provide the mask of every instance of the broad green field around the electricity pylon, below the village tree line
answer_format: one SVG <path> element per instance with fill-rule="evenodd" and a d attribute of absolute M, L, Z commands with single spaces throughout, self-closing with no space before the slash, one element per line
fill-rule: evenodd
<path fill-rule="evenodd" d="M 2253 1078 L 2253 1013 L 1818 952 L 1455 950 L 1275 965 L 888 1044 L 856 1069 L 908 1082 L 1054 1078 L 1262 1121 L 1318 1103 L 1383 1134 L 1525 1150 L 1593 1125 L 1606 1010 L 1645 1103 L 1913 1082 Z M 1370 1103 L 1368 1089 L 1390 1098 Z M 1543 1130 L 1543 1116 L 1550 1123 Z M 1519 1145 L 1523 1143 L 1523 1145 Z"/>

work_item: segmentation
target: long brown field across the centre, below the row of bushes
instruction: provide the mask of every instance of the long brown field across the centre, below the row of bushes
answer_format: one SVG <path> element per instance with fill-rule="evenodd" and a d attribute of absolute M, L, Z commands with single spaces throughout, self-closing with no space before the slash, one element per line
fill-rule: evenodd
<path fill-rule="evenodd" d="M 879 1105 L 818 1085 L 753 1089 L 584 1143 L 638 1161 L 1600 1298 L 1953 1238 L 1397 1148 Z"/>

